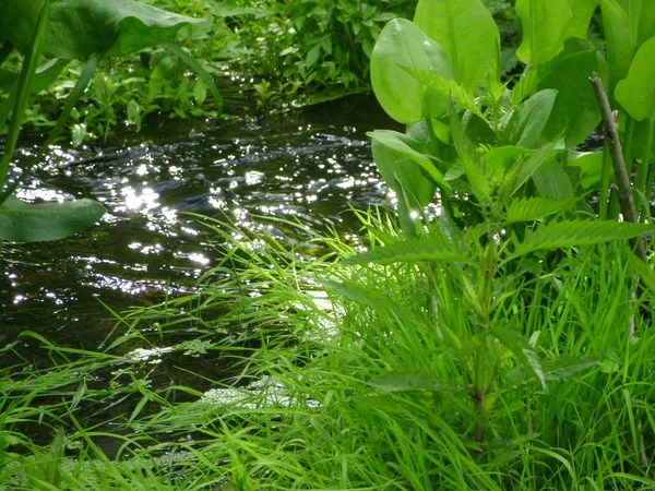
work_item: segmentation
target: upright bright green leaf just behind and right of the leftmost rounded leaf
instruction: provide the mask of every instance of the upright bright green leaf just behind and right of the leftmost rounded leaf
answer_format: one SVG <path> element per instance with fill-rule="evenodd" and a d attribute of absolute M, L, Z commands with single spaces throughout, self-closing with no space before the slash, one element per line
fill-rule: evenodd
<path fill-rule="evenodd" d="M 419 0 L 414 23 L 443 47 L 467 91 L 486 87 L 498 73 L 500 35 L 480 0 Z"/>

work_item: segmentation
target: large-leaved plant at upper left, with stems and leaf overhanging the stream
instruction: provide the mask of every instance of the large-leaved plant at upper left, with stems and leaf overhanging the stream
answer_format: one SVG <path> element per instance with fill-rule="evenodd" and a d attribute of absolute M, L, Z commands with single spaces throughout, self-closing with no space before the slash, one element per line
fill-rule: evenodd
<path fill-rule="evenodd" d="M 111 4 L 96 0 L 60 0 L 52 5 L 49 0 L 34 0 L 9 3 L 0 13 L 0 62 L 14 48 L 24 55 L 20 73 L 2 71 L 2 82 L 10 88 L 9 97 L 0 108 L 0 125 L 10 113 L 11 122 L 0 163 L 0 190 L 3 190 L 0 195 L 1 239 L 23 242 L 60 239 L 92 225 L 105 213 L 99 203 L 91 200 L 23 203 L 13 196 L 20 178 L 4 189 L 29 96 L 52 83 L 68 63 L 67 60 L 90 57 L 44 148 L 61 133 L 104 57 L 126 55 L 157 43 L 163 43 L 166 49 L 199 73 L 221 108 L 221 94 L 211 76 L 179 47 L 166 44 L 166 39 L 183 25 L 196 22 L 192 19 L 169 14 L 132 0 Z M 41 53 L 56 58 L 38 69 Z M 27 171 L 24 169 L 23 175 Z"/>

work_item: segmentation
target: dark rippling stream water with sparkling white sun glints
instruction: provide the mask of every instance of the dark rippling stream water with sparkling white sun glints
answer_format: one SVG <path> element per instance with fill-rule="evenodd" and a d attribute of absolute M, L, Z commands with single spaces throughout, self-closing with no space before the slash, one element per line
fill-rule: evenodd
<path fill-rule="evenodd" d="M 255 122 L 158 122 L 102 147 L 53 148 L 21 197 L 93 197 L 108 213 L 66 240 L 4 244 L 0 346 L 28 330 L 94 349 L 116 323 L 98 300 L 121 311 L 192 288 L 217 258 L 209 231 L 178 212 L 354 232 L 348 203 L 384 204 L 366 131 L 390 125 L 373 99 L 352 97 Z"/>

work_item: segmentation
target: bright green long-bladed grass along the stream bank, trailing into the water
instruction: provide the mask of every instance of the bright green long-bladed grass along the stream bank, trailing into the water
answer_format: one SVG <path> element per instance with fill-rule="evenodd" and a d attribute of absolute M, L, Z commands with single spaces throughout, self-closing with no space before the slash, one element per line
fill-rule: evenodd
<path fill-rule="evenodd" d="M 360 218 L 367 242 L 394 240 L 384 218 Z M 655 484 L 655 338 L 650 319 L 635 315 L 651 309 L 645 294 L 635 298 L 624 247 L 568 250 L 551 268 L 535 260 L 529 272 L 497 277 L 492 322 L 524 334 L 546 368 L 558 357 L 597 362 L 563 376 L 560 361 L 559 372 L 546 370 L 541 388 L 525 381 L 513 354 L 493 345 L 503 361 L 480 443 L 471 397 L 475 347 L 466 345 L 471 313 L 449 274 L 454 265 L 343 265 L 338 259 L 356 246 L 335 236 L 299 228 L 299 249 L 265 227 L 207 223 L 225 259 L 199 294 L 122 314 L 104 351 L 39 338 L 49 368 L 5 371 L 4 489 Z M 349 287 L 325 290 L 320 282 Z M 178 354 L 178 380 L 157 382 L 156 364 L 130 357 L 139 347 L 159 348 L 155 358 L 164 363 Z M 207 380 L 198 359 L 231 368 Z M 35 443 L 35 428 L 63 428 L 66 457 Z M 48 462 L 58 469 L 49 484 Z"/>

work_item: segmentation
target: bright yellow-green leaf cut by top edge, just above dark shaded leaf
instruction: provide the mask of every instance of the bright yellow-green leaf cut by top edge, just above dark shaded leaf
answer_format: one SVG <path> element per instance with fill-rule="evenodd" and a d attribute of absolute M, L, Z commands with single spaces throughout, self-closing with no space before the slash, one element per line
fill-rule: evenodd
<path fill-rule="evenodd" d="M 516 0 L 523 40 L 516 56 L 524 63 L 539 65 L 564 49 L 565 28 L 573 19 L 569 0 Z"/>

